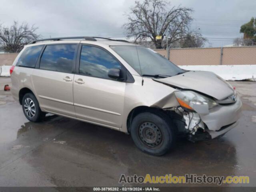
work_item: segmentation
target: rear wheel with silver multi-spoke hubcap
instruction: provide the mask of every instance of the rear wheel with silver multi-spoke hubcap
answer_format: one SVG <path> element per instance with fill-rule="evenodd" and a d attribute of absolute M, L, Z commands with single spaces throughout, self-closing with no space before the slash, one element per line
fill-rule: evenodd
<path fill-rule="evenodd" d="M 46 114 L 41 111 L 38 101 L 32 93 L 26 93 L 22 98 L 22 110 L 26 118 L 32 122 L 41 121 Z"/>

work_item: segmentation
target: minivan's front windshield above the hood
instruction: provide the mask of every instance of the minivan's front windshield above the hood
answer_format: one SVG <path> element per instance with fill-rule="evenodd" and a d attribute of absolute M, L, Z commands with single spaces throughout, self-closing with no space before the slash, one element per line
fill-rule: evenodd
<path fill-rule="evenodd" d="M 185 72 L 150 48 L 143 46 L 110 47 L 142 76 L 164 78 Z"/>

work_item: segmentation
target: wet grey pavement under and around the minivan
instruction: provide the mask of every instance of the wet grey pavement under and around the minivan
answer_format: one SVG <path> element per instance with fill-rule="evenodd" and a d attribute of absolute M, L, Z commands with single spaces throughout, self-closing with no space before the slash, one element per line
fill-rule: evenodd
<path fill-rule="evenodd" d="M 8 82 L 0 78 L 1 89 Z M 129 135 L 101 126 L 54 115 L 28 122 L 10 92 L 0 90 L 0 186 L 121 186 L 121 174 L 187 173 L 246 175 L 250 184 L 244 186 L 256 186 L 256 82 L 231 84 L 243 102 L 239 125 L 220 139 L 179 140 L 161 157 L 144 154 Z"/>

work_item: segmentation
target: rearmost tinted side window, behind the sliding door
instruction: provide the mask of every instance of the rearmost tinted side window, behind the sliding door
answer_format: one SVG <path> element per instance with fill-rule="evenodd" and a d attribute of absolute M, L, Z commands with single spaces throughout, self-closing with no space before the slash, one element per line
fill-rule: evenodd
<path fill-rule="evenodd" d="M 17 66 L 31 67 L 36 66 L 38 56 L 43 48 L 43 45 L 32 46 L 26 48 L 18 59 Z"/>

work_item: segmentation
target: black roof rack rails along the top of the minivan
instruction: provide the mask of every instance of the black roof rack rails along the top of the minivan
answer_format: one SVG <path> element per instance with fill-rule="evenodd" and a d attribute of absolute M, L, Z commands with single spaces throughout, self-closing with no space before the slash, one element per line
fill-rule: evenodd
<path fill-rule="evenodd" d="M 88 40 L 88 41 L 97 41 L 96 38 L 97 39 L 106 39 L 106 40 L 110 40 L 110 41 L 120 41 L 120 42 L 127 42 L 127 43 L 129 43 L 128 41 L 121 40 L 121 39 L 110 39 L 110 38 L 104 38 L 104 37 L 78 36 L 78 37 L 56 37 L 56 38 L 38 39 L 38 40 L 33 40 L 33 41 L 29 42 L 28 44 L 34 44 L 34 43 L 39 42 L 39 41 L 59 41 L 59 40 L 62 40 L 62 39 L 85 39 L 85 40 Z"/>

